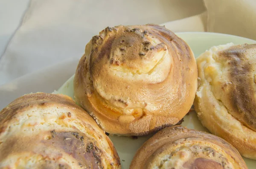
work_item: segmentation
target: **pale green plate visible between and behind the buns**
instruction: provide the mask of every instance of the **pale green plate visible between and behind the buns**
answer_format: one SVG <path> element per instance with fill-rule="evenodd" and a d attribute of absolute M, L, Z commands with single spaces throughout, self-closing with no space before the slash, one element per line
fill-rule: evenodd
<path fill-rule="evenodd" d="M 235 44 L 256 43 L 256 41 L 251 39 L 207 32 L 177 33 L 177 36 L 181 37 L 189 44 L 195 54 L 195 57 L 198 57 L 201 53 L 208 50 L 211 46 L 214 45 L 222 45 L 229 42 L 233 42 Z M 73 78 L 74 76 L 72 76 L 64 85 L 62 85 L 56 93 L 66 94 L 73 98 Z M 201 122 L 198 120 L 195 112 L 190 112 L 183 119 L 184 121 L 181 125 L 191 129 L 209 132 L 205 127 L 201 125 Z M 150 138 L 151 135 L 138 137 L 137 139 L 115 135 L 110 135 L 109 137 L 113 141 L 113 144 L 119 154 L 122 168 L 128 169 L 137 149 L 148 138 Z M 244 158 L 244 161 L 246 162 L 249 169 L 255 169 L 255 160 Z"/>

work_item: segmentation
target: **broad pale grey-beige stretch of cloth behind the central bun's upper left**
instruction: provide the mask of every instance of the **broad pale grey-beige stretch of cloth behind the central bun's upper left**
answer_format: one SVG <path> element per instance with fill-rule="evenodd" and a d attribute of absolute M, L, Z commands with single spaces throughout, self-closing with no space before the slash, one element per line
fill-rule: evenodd
<path fill-rule="evenodd" d="M 107 26 L 160 24 L 204 10 L 202 0 L 31 0 L 0 59 L 0 84 L 80 58 L 91 37 Z"/>

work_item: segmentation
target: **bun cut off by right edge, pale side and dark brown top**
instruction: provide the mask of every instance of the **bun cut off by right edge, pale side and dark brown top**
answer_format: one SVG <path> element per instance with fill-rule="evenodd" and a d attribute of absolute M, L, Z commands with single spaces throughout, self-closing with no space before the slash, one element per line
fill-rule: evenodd
<path fill-rule="evenodd" d="M 202 124 L 256 159 L 256 44 L 214 46 L 197 64 L 195 110 Z"/>

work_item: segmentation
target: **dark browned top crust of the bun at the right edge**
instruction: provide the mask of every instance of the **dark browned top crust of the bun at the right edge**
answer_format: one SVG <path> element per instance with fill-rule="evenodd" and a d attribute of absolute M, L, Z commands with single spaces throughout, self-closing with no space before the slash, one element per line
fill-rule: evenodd
<path fill-rule="evenodd" d="M 256 131 L 256 44 L 234 45 L 219 52 L 225 67 L 221 101 L 242 124 Z"/>

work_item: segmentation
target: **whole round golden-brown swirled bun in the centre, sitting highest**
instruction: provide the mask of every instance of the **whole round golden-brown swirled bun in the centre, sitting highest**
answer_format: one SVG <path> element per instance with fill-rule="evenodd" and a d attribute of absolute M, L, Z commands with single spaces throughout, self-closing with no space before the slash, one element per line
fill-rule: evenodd
<path fill-rule="evenodd" d="M 189 111 L 197 67 L 189 46 L 159 25 L 105 28 L 86 45 L 74 97 L 108 133 L 145 135 Z"/>

